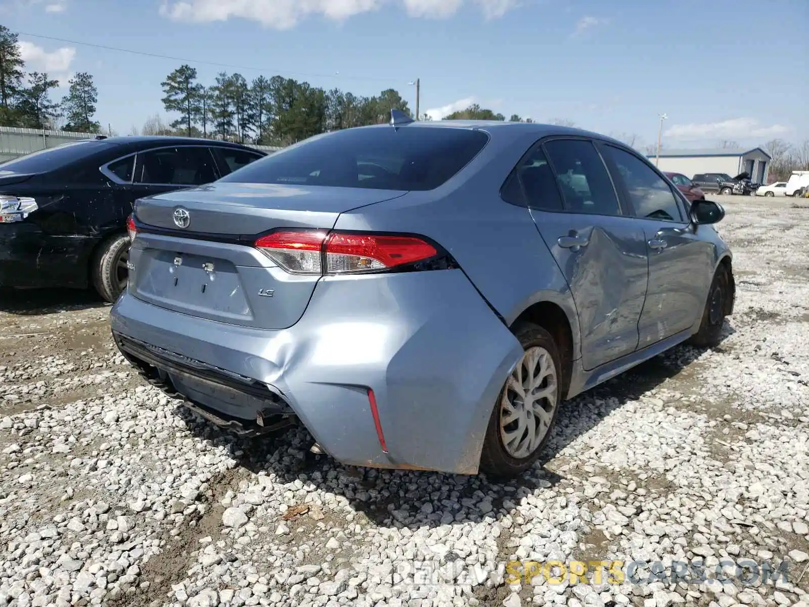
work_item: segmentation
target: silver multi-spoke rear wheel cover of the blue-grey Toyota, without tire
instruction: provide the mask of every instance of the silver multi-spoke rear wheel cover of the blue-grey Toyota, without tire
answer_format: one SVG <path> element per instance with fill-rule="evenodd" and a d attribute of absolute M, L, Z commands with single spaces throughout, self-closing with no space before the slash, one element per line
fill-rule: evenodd
<path fill-rule="evenodd" d="M 500 439 L 516 459 L 530 456 L 548 434 L 559 383 L 548 350 L 529 348 L 511 372 L 500 400 Z"/>

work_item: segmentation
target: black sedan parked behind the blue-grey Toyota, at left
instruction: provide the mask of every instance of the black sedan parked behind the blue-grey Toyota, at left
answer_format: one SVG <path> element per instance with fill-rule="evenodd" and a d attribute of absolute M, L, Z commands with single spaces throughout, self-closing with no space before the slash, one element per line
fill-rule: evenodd
<path fill-rule="evenodd" d="M 264 155 L 208 139 L 99 137 L 0 164 L 0 287 L 94 287 L 115 301 L 135 200 L 205 185 Z"/>

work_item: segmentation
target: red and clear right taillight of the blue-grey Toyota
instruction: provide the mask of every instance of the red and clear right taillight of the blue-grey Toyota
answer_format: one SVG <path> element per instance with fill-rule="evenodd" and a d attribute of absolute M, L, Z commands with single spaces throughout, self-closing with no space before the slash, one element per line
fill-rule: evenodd
<path fill-rule="evenodd" d="M 278 231 L 256 240 L 258 248 L 292 274 L 356 274 L 426 261 L 438 250 L 417 236 Z"/>

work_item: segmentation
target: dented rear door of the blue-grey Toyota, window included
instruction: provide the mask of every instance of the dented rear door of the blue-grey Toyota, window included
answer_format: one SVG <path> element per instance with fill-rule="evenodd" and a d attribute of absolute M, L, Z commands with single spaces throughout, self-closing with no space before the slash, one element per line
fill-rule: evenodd
<path fill-rule="evenodd" d="M 562 138 L 537 143 L 510 180 L 510 188 L 519 182 L 534 223 L 570 286 L 584 368 L 632 353 L 646 297 L 646 239 L 622 212 L 593 142 Z"/>

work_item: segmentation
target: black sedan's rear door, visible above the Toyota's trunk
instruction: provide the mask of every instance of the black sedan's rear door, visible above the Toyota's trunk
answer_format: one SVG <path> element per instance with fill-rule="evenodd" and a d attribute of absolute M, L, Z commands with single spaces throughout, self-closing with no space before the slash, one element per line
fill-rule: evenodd
<path fill-rule="evenodd" d="M 208 146 L 166 146 L 138 152 L 128 197 L 138 198 L 218 180 L 214 155 Z"/>

